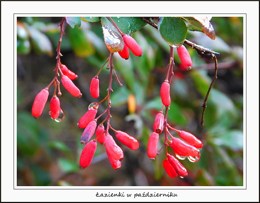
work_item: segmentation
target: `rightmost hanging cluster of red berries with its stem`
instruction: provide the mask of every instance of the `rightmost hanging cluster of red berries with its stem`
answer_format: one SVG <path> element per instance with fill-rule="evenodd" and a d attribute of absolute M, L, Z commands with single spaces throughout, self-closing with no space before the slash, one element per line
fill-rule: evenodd
<path fill-rule="evenodd" d="M 182 66 L 185 67 L 187 70 L 191 69 L 192 61 L 185 46 L 181 45 L 176 49 Z M 163 159 L 162 166 L 166 171 L 167 175 L 171 178 L 175 178 L 176 176 L 179 176 L 180 178 L 185 178 L 187 176 L 187 171 L 185 167 L 177 159 L 184 160 L 188 158 L 190 162 L 197 162 L 200 158 L 199 150 L 202 148 L 203 144 L 191 133 L 176 130 L 167 123 L 167 113 L 171 103 L 170 82 L 172 77 L 174 76 L 173 67 L 173 47 L 170 47 L 170 59 L 169 64 L 167 65 L 167 74 L 160 88 L 160 97 L 163 106 L 155 116 L 153 132 L 151 133 L 147 143 L 147 156 L 151 160 L 154 160 L 156 155 L 159 155 L 160 151 L 164 147 L 165 158 Z M 165 113 L 163 114 L 164 108 Z M 178 133 L 178 136 L 182 138 L 184 141 L 179 138 L 173 137 L 169 132 L 169 129 Z M 163 131 L 164 143 L 162 148 L 160 150 L 157 150 L 159 134 Z M 168 146 L 174 151 L 174 154 L 177 159 L 168 153 Z"/>

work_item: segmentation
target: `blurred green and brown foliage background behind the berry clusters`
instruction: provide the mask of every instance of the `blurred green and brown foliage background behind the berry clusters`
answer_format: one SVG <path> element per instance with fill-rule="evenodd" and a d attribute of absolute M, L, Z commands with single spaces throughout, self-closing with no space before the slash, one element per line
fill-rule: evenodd
<path fill-rule="evenodd" d="M 163 167 L 163 152 L 154 161 L 146 155 L 154 117 L 161 108 L 160 85 L 169 61 L 169 46 L 158 31 L 145 25 L 133 37 L 143 56 L 130 53 L 128 60 L 114 54 L 114 68 L 122 87 L 113 78 L 111 126 L 139 140 L 132 151 L 124 151 L 122 167 L 113 170 L 104 145 L 98 143 L 91 165 L 80 169 L 83 129 L 76 124 L 91 102 L 106 96 L 109 71 L 99 74 L 100 97 L 93 99 L 89 83 L 109 56 L 101 23 L 81 21 L 79 28 L 65 23 L 61 42 L 61 63 L 78 75 L 74 81 L 83 96 L 75 98 L 61 86 L 60 105 L 64 121 L 57 123 L 48 115 L 49 99 L 39 119 L 30 111 L 36 94 L 54 77 L 61 17 L 17 18 L 17 186 L 243 186 L 243 18 L 212 17 L 216 39 L 201 32 L 188 31 L 187 39 L 220 53 L 218 78 L 213 85 L 200 126 L 202 103 L 214 74 L 213 61 L 201 58 L 187 47 L 192 69 L 183 70 L 174 52 L 168 123 L 202 140 L 201 158 L 196 163 L 180 161 L 188 171 L 185 179 L 169 178 Z M 175 50 L 175 49 L 174 49 Z M 136 112 L 129 114 L 127 97 L 136 98 Z M 98 115 L 106 108 L 102 103 Z M 174 134 L 173 134 L 174 135 Z M 175 135 L 174 135 L 175 136 Z M 159 145 L 163 144 L 163 136 Z"/>

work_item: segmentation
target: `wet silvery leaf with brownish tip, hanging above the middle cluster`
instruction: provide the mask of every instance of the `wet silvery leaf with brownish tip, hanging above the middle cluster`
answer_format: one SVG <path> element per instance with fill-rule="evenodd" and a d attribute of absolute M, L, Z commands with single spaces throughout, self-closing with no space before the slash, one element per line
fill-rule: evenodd
<path fill-rule="evenodd" d="M 119 31 L 106 18 L 101 17 L 101 24 L 104 35 L 104 43 L 111 53 L 123 50 L 124 42 Z"/>

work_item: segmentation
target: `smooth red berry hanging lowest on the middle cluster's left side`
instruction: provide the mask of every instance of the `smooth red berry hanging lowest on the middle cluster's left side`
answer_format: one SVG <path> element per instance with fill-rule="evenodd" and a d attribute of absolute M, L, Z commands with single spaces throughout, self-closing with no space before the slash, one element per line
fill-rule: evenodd
<path fill-rule="evenodd" d="M 95 150 L 96 150 L 96 141 L 95 140 L 91 140 L 89 143 L 87 143 L 85 145 L 85 147 L 83 148 L 80 158 L 79 158 L 79 165 L 82 168 L 86 168 L 90 165 L 94 154 L 95 154 Z"/>

